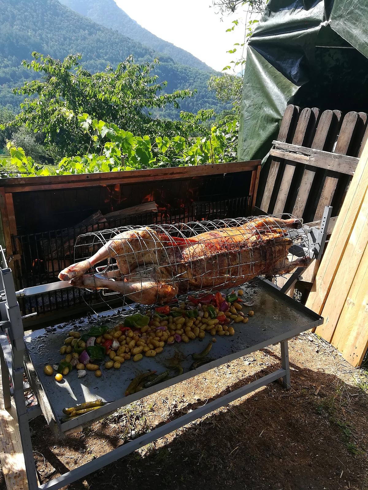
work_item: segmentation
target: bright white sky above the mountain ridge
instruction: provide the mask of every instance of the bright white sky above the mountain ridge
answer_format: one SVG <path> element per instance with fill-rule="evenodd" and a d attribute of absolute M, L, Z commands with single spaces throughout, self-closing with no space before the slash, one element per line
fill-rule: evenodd
<path fill-rule="evenodd" d="M 233 32 L 225 31 L 235 19 L 244 22 L 240 12 L 221 20 L 221 15 L 210 8 L 211 0 L 115 1 L 142 27 L 189 51 L 215 70 L 221 71 L 237 58 L 237 53 L 226 51 L 232 49 L 234 43 L 243 42 L 245 28 L 238 25 Z"/>

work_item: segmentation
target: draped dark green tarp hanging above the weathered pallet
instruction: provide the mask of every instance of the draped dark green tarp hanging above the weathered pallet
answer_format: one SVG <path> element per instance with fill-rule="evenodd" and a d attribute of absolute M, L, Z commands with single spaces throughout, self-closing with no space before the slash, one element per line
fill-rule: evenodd
<path fill-rule="evenodd" d="M 269 0 L 245 65 L 238 160 L 268 153 L 289 103 L 368 112 L 368 0 Z"/>

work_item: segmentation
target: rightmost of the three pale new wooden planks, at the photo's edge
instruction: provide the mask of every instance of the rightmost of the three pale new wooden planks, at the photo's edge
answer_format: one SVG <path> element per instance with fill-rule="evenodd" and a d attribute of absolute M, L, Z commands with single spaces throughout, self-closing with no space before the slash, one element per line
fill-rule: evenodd
<path fill-rule="evenodd" d="M 362 364 L 368 348 L 368 246 L 342 308 L 332 345 L 354 367 Z"/>

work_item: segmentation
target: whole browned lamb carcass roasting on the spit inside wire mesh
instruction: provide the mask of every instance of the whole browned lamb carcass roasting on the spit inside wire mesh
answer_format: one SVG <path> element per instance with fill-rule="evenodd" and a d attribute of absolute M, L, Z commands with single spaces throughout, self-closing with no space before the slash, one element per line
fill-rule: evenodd
<path fill-rule="evenodd" d="M 213 224 L 211 231 L 191 238 L 172 237 L 159 227 L 123 231 L 88 260 L 62 270 L 59 279 L 79 288 L 117 291 L 148 305 L 170 301 L 178 293 L 231 288 L 307 265 L 306 258 L 288 260 L 288 228 L 299 227 L 299 220 L 261 217 L 239 226 Z M 118 267 L 114 278 L 86 274 L 112 258 Z"/>

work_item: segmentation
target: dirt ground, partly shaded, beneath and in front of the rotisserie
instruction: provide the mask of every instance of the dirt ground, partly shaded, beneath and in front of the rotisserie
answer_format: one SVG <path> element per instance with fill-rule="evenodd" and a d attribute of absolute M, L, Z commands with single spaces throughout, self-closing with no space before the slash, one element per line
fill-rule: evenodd
<path fill-rule="evenodd" d="M 289 350 L 290 391 L 272 383 L 68 488 L 367 490 L 366 371 L 314 334 L 290 340 Z M 279 367 L 280 346 L 265 348 L 68 438 L 53 439 L 38 417 L 31 429 L 41 483 Z"/>

